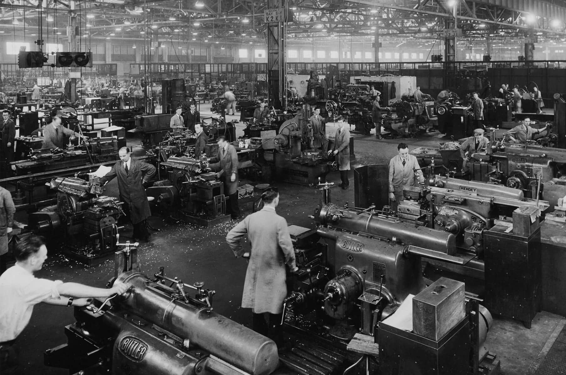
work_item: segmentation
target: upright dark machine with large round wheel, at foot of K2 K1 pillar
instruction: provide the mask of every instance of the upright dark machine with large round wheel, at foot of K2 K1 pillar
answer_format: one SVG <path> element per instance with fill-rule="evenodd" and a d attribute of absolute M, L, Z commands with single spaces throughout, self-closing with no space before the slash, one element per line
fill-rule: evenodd
<path fill-rule="evenodd" d="M 264 158 L 275 165 L 277 179 L 312 186 L 332 170 L 327 156 L 312 146 L 309 114 L 310 106 L 303 105 L 294 118 L 281 124 L 274 138 L 263 143 Z"/>

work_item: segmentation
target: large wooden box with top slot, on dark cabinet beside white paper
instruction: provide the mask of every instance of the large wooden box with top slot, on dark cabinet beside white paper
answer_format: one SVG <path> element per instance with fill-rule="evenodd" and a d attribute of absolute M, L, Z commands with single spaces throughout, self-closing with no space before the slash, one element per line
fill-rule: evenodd
<path fill-rule="evenodd" d="M 464 283 L 439 278 L 413 298 L 413 332 L 438 341 L 466 316 Z"/>

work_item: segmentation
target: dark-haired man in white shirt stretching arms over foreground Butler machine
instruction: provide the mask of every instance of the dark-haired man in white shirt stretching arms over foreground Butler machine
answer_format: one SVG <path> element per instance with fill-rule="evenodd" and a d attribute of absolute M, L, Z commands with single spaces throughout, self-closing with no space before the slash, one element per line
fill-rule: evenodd
<path fill-rule="evenodd" d="M 128 286 L 115 283 L 112 288 L 94 288 L 83 284 L 38 279 L 33 273 L 47 259 L 44 240 L 29 236 L 20 240 L 14 252 L 16 265 L 0 276 L 0 368 L 2 374 L 19 373 L 16 339 L 28 325 L 33 306 L 45 302 L 59 306 L 85 306 L 91 298 L 121 295 Z"/>

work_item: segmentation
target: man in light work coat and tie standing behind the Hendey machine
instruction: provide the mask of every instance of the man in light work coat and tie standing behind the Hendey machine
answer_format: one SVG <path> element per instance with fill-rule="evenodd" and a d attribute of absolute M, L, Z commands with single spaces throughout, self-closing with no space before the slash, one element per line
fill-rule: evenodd
<path fill-rule="evenodd" d="M 409 146 L 400 143 L 397 146 L 398 155 L 389 161 L 389 205 L 397 212 L 399 201 L 403 200 L 403 188 L 415 186 L 415 177 L 424 182 L 417 158 L 409 154 Z"/>

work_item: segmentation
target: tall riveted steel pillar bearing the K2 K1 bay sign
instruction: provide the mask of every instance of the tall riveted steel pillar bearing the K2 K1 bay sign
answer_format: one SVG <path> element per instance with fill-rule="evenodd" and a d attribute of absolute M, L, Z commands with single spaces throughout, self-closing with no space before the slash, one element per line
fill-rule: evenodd
<path fill-rule="evenodd" d="M 285 38 L 287 35 L 286 0 L 268 0 L 269 10 L 284 8 L 283 22 L 271 22 L 267 26 L 267 85 L 268 100 L 276 109 L 287 109 L 287 71 Z"/>

